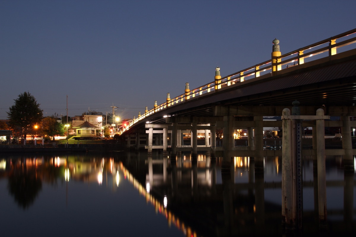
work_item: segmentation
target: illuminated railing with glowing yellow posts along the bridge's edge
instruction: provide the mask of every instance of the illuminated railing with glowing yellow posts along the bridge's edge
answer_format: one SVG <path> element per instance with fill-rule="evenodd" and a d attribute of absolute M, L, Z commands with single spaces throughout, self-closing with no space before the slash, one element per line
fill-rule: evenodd
<path fill-rule="evenodd" d="M 304 63 L 309 63 L 311 61 L 315 61 L 321 58 L 325 60 L 330 60 L 332 55 L 337 53 L 347 52 L 349 50 L 356 49 L 356 28 L 350 31 L 338 34 L 336 36 L 330 37 L 328 39 L 324 39 L 323 41 L 316 42 L 314 44 L 310 44 L 306 47 L 299 48 L 292 52 L 283 54 L 277 57 L 276 69 L 277 72 L 281 70 L 291 70 L 290 67 L 295 65 L 301 65 Z M 341 41 L 340 41 L 341 40 Z M 340 41 L 340 42 L 336 42 Z M 272 60 L 264 61 L 263 63 L 256 64 L 250 68 L 246 68 L 244 70 L 235 72 L 228 76 L 222 77 L 217 80 L 217 82 L 209 82 L 203 86 L 190 90 L 180 96 L 169 99 L 167 102 L 164 102 L 150 111 L 147 111 L 144 115 L 138 117 L 137 119 L 133 119 L 132 122 L 127 126 L 123 131 L 126 131 L 133 124 L 138 121 L 158 112 L 167 107 L 174 106 L 176 104 L 183 103 L 189 99 L 194 99 L 198 96 L 209 95 L 210 93 L 214 93 L 221 88 L 232 86 L 235 84 L 242 85 L 245 81 L 250 79 L 261 79 L 263 80 L 263 75 L 271 74 L 273 70 Z"/>

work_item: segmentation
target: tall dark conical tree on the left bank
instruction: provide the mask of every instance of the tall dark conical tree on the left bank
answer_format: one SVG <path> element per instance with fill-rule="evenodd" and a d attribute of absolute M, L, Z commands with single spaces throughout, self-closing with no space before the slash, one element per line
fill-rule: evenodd
<path fill-rule="evenodd" d="M 30 92 L 23 92 L 19 98 L 14 99 L 15 104 L 9 108 L 7 116 L 11 128 L 23 135 L 24 144 L 28 130 L 39 123 L 43 117 L 43 110 L 40 109 L 40 104 L 37 103 L 35 97 Z"/>

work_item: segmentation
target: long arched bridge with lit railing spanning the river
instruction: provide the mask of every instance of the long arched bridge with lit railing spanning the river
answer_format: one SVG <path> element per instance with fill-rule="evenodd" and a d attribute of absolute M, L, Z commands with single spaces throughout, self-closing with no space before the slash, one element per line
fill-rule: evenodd
<path fill-rule="evenodd" d="M 210 140 L 204 146 L 215 150 L 215 136 L 209 134 L 224 129 L 223 149 L 236 150 L 231 145 L 231 137 L 234 129 L 244 128 L 249 131 L 246 149 L 263 150 L 263 127 L 282 126 L 281 121 L 263 121 L 263 116 L 281 116 L 283 109 L 291 109 L 292 102 L 297 100 L 301 115 L 315 115 L 316 110 L 322 108 L 325 116 L 341 116 L 341 121 L 325 121 L 325 126 L 345 128 L 342 135 L 350 138 L 348 146 L 352 146 L 351 135 L 346 133 L 356 126 L 350 121 L 350 116 L 356 116 L 355 33 L 356 29 L 352 29 L 286 54 L 281 53 L 279 41 L 275 39 L 270 60 L 225 77 L 221 77 L 220 69 L 216 68 L 214 81 L 193 90 L 187 83 L 185 93 L 175 98 L 167 93 L 164 103 L 155 102 L 150 110 L 146 107 L 122 135 L 126 136 L 129 146 L 165 150 L 169 147 L 167 134 L 168 137 L 171 134 L 172 149 L 182 147 L 180 150 L 184 150 L 188 148 L 183 149 L 180 144 L 181 133 L 190 130 L 190 149 L 194 152 L 194 147 L 199 147 L 194 144 L 196 133 L 205 131 L 206 140 L 208 137 Z M 315 121 L 307 120 L 303 126 L 315 127 Z M 155 139 L 152 133 L 161 135 Z M 138 134 L 147 136 L 147 142 L 140 142 Z M 152 139 L 158 139 L 156 144 L 152 144 L 155 143 Z"/>

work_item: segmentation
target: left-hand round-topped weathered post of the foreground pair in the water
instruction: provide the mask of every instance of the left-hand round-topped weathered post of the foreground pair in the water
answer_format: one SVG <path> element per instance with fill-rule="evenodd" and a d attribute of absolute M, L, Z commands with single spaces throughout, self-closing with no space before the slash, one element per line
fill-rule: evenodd
<path fill-rule="evenodd" d="M 288 108 L 283 109 L 282 115 L 290 115 Z M 293 218 L 293 122 L 291 119 L 282 120 L 282 221 L 286 231 L 295 228 Z"/>

